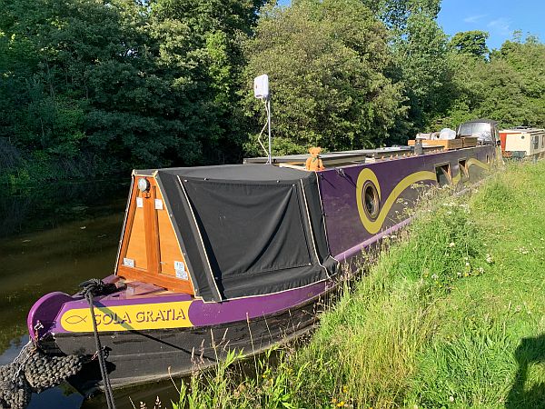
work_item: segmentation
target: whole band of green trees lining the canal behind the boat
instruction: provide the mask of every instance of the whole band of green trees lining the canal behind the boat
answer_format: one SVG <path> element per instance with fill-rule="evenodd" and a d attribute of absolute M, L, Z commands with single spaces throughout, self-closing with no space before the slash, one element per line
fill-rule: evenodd
<path fill-rule="evenodd" d="M 545 126 L 545 50 L 450 40 L 441 0 L 0 0 L 0 182 L 405 143 L 476 116 Z"/>

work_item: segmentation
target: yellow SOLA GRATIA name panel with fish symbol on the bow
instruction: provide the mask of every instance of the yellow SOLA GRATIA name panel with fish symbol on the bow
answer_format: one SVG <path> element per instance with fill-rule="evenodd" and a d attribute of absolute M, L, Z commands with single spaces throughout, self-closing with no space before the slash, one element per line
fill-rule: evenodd
<path fill-rule="evenodd" d="M 94 307 L 96 328 L 104 331 L 129 331 L 193 326 L 189 319 L 192 301 Z M 61 317 L 64 330 L 72 333 L 93 332 L 89 308 L 69 310 Z"/>

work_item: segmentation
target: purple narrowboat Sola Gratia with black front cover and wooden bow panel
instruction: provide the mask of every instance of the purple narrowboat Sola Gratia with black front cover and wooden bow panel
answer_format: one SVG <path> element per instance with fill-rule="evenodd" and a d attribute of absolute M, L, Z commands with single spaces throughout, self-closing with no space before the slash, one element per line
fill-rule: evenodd
<path fill-rule="evenodd" d="M 312 172 L 305 155 L 134 170 L 94 319 L 84 294 L 45 294 L 29 334 L 44 354 L 88 358 L 98 334 L 114 388 L 190 374 L 230 350 L 257 354 L 308 332 L 342 265 L 353 271 L 407 224 L 422 190 L 481 180 L 497 152 L 496 141 L 417 143 L 324 154 Z M 96 360 L 69 381 L 101 387 Z"/>

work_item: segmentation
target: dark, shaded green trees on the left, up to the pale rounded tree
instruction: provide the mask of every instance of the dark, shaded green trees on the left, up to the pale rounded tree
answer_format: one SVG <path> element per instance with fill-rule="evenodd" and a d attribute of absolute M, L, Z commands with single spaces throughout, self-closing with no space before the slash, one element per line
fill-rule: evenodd
<path fill-rule="evenodd" d="M 260 5 L 2 2 L 0 137 L 51 177 L 224 160 Z"/>

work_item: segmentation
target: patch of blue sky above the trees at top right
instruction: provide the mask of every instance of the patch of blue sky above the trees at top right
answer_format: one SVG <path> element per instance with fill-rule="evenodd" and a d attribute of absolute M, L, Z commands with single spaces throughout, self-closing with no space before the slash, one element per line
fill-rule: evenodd
<path fill-rule="evenodd" d="M 289 5 L 290 0 L 280 0 Z M 538 35 L 545 42 L 545 0 L 442 0 L 439 24 L 448 35 L 459 31 L 490 33 L 488 46 L 500 48 L 513 31 Z"/>

